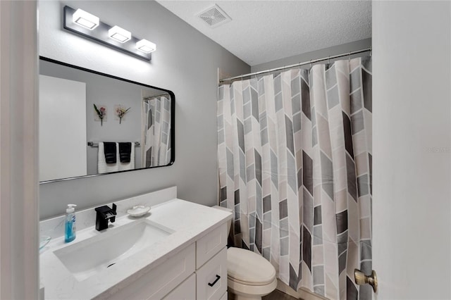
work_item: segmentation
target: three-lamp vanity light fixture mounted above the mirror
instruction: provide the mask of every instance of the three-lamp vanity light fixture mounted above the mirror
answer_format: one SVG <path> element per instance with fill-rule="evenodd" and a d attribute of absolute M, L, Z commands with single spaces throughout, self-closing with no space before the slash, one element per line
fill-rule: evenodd
<path fill-rule="evenodd" d="M 65 30 L 144 61 L 150 61 L 152 52 L 156 49 L 156 45 L 146 39 L 134 37 L 131 32 L 119 26 L 108 25 L 95 15 L 69 6 L 64 6 L 63 9 L 63 27 Z"/>

